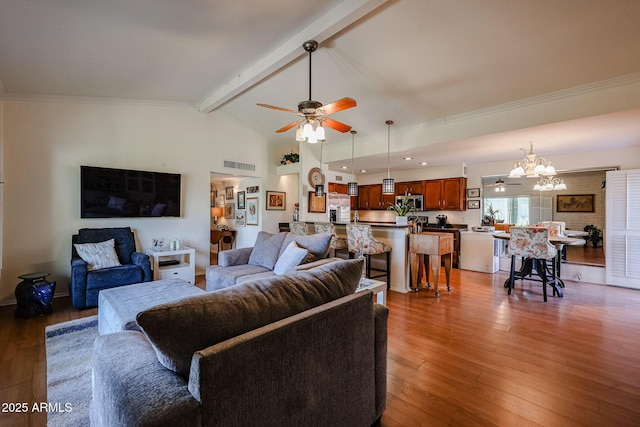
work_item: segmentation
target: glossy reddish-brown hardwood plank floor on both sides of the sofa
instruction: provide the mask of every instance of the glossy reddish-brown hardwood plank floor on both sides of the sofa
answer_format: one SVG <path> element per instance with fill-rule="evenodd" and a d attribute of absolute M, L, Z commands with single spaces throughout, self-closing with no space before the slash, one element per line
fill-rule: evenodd
<path fill-rule="evenodd" d="M 439 299 L 389 292 L 381 425 L 640 425 L 640 291 L 567 282 L 545 304 L 539 283 L 507 296 L 506 277 L 454 269 Z M 0 402 L 46 401 L 45 325 L 96 310 L 58 298 L 53 314 L 25 321 L 14 309 L 0 307 Z M 0 413 L 3 427 L 45 424 Z"/>

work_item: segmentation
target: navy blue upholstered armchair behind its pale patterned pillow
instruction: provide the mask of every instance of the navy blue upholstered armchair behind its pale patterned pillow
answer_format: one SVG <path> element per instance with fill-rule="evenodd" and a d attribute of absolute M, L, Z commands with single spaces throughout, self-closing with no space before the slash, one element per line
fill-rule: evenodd
<path fill-rule="evenodd" d="M 119 266 L 87 270 L 87 263 L 80 258 L 75 243 L 99 243 L 115 240 Z M 69 294 L 76 309 L 97 307 L 98 293 L 102 289 L 149 282 L 152 279 L 149 256 L 136 252 L 136 243 L 130 227 L 82 228 L 71 238 L 71 280 Z"/>

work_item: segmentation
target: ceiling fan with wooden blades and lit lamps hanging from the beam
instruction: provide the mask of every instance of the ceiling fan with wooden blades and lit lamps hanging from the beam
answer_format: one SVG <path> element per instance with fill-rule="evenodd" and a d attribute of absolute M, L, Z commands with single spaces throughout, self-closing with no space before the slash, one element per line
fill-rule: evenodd
<path fill-rule="evenodd" d="M 311 99 L 311 53 L 315 52 L 318 47 L 318 42 L 315 40 L 309 40 L 304 42 L 302 47 L 305 51 L 309 52 L 309 99 L 307 101 L 301 101 L 298 104 L 298 111 L 274 107 L 273 105 L 268 104 L 257 105 L 259 107 L 271 108 L 273 110 L 284 111 L 285 113 L 293 113 L 300 116 L 300 119 L 289 123 L 276 131 L 277 133 L 286 132 L 295 126 L 298 126 L 298 129 L 296 130 L 297 141 L 306 140 L 311 143 L 324 141 L 324 126 L 337 130 L 338 132 L 349 132 L 351 130 L 351 126 L 330 119 L 327 116 L 329 114 L 337 113 L 338 111 L 355 107 L 356 101 L 351 98 L 342 98 L 327 105 L 322 105 L 321 102 L 313 101 Z"/>

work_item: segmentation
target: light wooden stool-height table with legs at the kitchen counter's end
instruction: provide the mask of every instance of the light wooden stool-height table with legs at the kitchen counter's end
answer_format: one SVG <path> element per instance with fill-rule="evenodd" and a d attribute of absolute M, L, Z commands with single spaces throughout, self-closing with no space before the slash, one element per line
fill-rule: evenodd
<path fill-rule="evenodd" d="M 440 281 L 440 264 L 444 260 L 444 272 L 447 281 L 447 290 L 451 290 L 451 263 L 453 257 L 453 234 L 451 233 L 417 233 L 409 234 L 409 254 L 411 290 L 418 291 L 418 277 L 420 276 L 421 259 L 425 256 L 429 258 L 429 268 L 424 263 L 426 270 L 427 284 L 429 283 L 429 269 L 433 276 L 434 290 L 436 298 L 440 297 L 438 283 Z M 422 257 L 420 257 L 422 255 Z"/>

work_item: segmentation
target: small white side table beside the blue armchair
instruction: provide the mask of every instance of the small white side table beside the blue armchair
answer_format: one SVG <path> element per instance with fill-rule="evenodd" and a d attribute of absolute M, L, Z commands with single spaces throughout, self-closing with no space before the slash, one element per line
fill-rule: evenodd
<path fill-rule="evenodd" d="M 180 249 L 150 248 L 145 253 L 152 259 L 153 280 L 182 279 L 192 285 L 196 283 L 196 250 L 188 246 Z"/>

